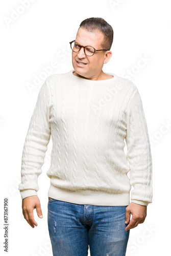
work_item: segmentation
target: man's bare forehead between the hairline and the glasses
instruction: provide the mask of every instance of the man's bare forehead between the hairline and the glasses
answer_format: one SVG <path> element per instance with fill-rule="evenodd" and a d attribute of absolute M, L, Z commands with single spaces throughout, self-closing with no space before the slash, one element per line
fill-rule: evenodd
<path fill-rule="evenodd" d="M 76 41 L 83 46 L 93 46 L 95 49 L 101 47 L 104 35 L 100 32 L 90 32 L 84 28 L 79 28 Z"/>

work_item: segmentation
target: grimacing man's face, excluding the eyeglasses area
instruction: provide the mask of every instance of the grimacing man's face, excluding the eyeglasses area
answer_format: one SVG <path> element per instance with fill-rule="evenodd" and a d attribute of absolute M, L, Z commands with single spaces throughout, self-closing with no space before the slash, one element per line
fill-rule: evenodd
<path fill-rule="evenodd" d="M 92 46 L 96 50 L 101 50 L 104 35 L 99 32 L 89 32 L 82 27 L 77 32 L 76 41 L 81 46 Z M 106 52 L 95 52 L 93 56 L 87 56 L 84 53 L 83 47 L 79 52 L 72 51 L 72 66 L 76 73 L 85 78 L 98 77 L 104 65 Z M 85 65 L 81 65 L 79 62 L 84 62 Z"/>

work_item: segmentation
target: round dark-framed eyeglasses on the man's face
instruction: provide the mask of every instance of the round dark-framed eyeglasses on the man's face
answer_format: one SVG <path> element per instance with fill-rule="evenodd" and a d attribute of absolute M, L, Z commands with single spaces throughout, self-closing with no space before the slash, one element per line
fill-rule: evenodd
<path fill-rule="evenodd" d="M 70 48 L 73 52 L 79 52 L 80 49 L 83 47 L 84 53 L 87 56 L 92 56 L 92 55 L 94 55 L 95 52 L 98 52 L 98 51 L 108 51 L 107 49 L 95 50 L 94 47 L 92 47 L 92 46 L 81 46 L 78 42 L 76 42 L 76 40 L 69 42 L 69 44 L 70 44 Z"/>

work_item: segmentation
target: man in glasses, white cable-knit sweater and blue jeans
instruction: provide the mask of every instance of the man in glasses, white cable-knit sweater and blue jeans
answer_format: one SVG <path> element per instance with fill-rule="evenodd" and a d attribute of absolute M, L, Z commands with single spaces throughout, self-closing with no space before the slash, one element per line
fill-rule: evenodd
<path fill-rule="evenodd" d="M 102 70 L 112 41 L 103 18 L 83 20 L 70 41 L 74 70 L 46 79 L 29 125 L 19 184 L 23 216 L 33 228 L 34 208 L 42 218 L 37 177 L 52 135 L 46 174 L 53 255 L 87 255 L 88 245 L 91 256 L 126 255 L 130 229 L 144 222 L 152 203 L 151 148 L 138 89 Z"/>

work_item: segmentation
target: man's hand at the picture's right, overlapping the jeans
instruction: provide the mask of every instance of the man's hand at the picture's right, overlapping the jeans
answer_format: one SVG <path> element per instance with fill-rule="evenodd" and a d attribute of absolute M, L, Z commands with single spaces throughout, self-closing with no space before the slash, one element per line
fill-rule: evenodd
<path fill-rule="evenodd" d="M 130 214 L 132 214 L 132 219 L 130 221 Z M 146 206 L 145 205 L 140 205 L 140 204 L 135 204 L 131 202 L 127 208 L 126 208 L 126 224 L 129 223 L 129 225 L 126 227 L 126 231 L 128 229 L 134 228 L 138 226 L 138 224 L 143 223 L 146 217 Z"/>

